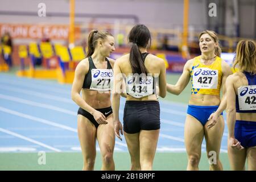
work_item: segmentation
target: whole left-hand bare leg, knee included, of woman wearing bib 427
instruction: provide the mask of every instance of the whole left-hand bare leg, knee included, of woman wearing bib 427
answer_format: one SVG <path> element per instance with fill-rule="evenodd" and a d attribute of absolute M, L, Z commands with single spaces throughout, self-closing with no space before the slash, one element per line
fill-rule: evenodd
<path fill-rule="evenodd" d="M 184 127 L 185 147 L 188 155 L 187 170 L 199 170 L 201 145 L 204 139 L 204 126 L 187 114 Z"/>

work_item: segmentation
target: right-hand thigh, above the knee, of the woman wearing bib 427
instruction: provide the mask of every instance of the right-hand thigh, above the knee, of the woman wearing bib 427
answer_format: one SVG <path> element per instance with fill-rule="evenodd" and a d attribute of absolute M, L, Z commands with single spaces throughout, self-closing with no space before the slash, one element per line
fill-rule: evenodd
<path fill-rule="evenodd" d="M 210 121 L 205 123 L 204 125 L 204 135 L 207 146 L 207 152 L 214 151 L 220 154 L 221 140 L 224 132 L 224 119 L 223 116 L 220 115 L 216 124 L 208 129 L 207 125 Z"/>

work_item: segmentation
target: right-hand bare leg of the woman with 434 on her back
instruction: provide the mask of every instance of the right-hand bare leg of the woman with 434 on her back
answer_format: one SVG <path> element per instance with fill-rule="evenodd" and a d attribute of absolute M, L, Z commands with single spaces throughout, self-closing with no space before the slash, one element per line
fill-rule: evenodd
<path fill-rule="evenodd" d="M 140 162 L 143 171 L 152 170 L 159 131 L 159 129 L 141 130 L 139 133 L 139 155 L 141 156 Z"/>

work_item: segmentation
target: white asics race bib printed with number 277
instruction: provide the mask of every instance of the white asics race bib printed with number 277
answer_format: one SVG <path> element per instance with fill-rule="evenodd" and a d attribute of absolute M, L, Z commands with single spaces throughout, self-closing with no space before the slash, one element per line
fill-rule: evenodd
<path fill-rule="evenodd" d="M 92 90 L 111 90 L 113 85 L 114 74 L 112 69 L 92 69 Z"/>

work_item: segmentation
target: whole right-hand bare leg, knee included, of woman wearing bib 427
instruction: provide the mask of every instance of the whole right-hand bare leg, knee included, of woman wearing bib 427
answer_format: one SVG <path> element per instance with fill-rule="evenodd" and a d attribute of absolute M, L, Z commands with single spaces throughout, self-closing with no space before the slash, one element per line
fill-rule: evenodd
<path fill-rule="evenodd" d="M 210 163 L 210 170 L 223 170 L 222 164 L 220 162 L 220 148 L 221 148 L 221 139 L 224 132 L 224 119 L 223 116 L 220 115 L 218 117 L 218 121 L 216 124 L 208 129 L 207 125 L 210 121 L 205 123 L 204 125 L 204 135 L 205 142 L 207 146 L 207 156 Z M 216 156 L 216 159 L 215 159 Z"/>

